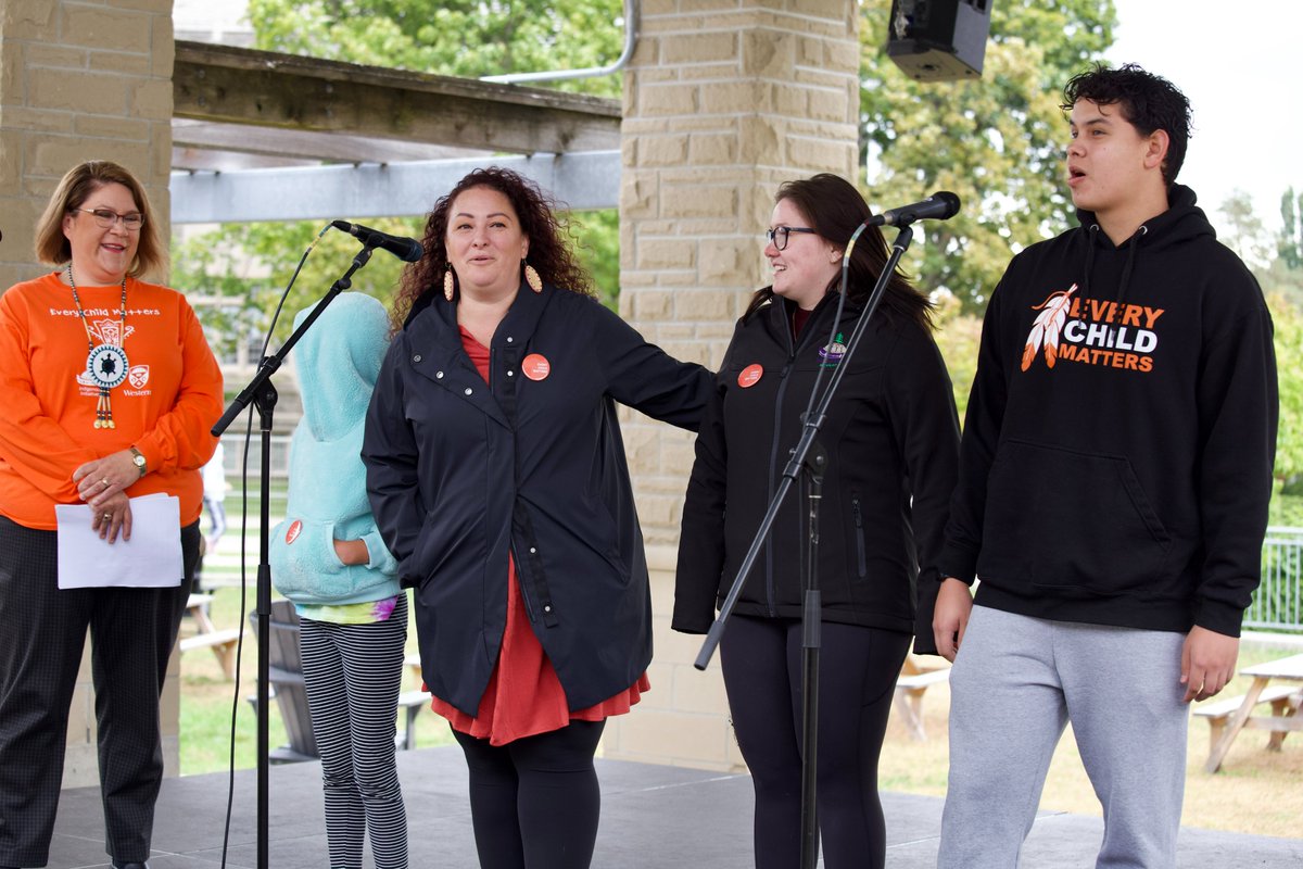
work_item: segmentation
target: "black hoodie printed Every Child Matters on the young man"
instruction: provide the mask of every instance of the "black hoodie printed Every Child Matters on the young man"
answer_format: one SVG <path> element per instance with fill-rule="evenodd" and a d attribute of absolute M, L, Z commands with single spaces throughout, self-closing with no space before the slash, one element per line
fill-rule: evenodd
<path fill-rule="evenodd" d="M 1195 194 L 1010 263 L 982 326 L 941 565 L 1009 612 L 1239 636 L 1276 455 L 1257 281 Z"/>

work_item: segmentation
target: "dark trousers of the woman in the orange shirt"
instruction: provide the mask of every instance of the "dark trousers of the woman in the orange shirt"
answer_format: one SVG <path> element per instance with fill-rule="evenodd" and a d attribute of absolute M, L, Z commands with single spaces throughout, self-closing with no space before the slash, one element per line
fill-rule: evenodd
<path fill-rule="evenodd" d="M 119 862 L 143 862 L 163 779 L 159 694 L 199 524 L 181 529 L 185 578 L 168 589 L 60 590 L 56 541 L 0 517 L 0 865 L 48 862 L 87 629 L 104 847 Z"/>

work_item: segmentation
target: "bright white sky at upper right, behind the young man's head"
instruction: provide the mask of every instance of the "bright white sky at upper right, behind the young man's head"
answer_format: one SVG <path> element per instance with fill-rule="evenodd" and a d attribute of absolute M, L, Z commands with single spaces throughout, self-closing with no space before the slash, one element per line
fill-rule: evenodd
<path fill-rule="evenodd" d="M 1303 4 L 1296 0 L 1114 0 L 1118 27 L 1106 52 L 1138 63 L 1190 99 L 1194 133 L 1177 180 L 1216 214 L 1235 189 L 1253 198 L 1270 231 L 1281 194 L 1303 193 L 1303 98 L 1298 74 Z M 1293 63 L 1291 63 L 1293 61 Z"/>

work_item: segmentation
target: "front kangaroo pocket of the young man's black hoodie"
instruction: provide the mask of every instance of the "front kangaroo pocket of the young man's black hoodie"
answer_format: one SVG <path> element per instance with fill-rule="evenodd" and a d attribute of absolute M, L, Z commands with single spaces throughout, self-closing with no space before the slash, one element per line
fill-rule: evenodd
<path fill-rule="evenodd" d="M 1131 593 L 1161 576 L 1171 535 L 1126 457 L 1006 442 L 992 465 L 979 576 L 998 585 Z"/>

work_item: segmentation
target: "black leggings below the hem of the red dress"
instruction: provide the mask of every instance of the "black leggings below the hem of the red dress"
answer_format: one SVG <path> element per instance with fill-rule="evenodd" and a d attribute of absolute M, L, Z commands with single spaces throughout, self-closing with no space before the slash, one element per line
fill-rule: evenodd
<path fill-rule="evenodd" d="M 481 869 L 584 869 L 602 793 L 593 754 L 606 722 L 494 747 L 452 731 L 470 769 L 470 821 Z"/>

